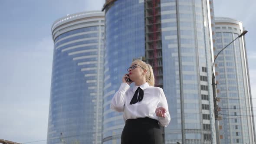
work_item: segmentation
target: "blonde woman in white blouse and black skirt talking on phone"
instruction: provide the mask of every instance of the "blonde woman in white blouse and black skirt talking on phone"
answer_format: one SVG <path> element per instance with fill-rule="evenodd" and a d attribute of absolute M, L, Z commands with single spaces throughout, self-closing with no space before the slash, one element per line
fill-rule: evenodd
<path fill-rule="evenodd" d="M 123 76 L 110 106 L 124 112 L 121 144 L 162 144 L 160 126 L 166 127 L 171 120 L 163 89 L 154 87 L 151 65 L 137 59 L 127 71 L 129 76 Z M 132 82 L 135 85 L 130 88 Z"/>

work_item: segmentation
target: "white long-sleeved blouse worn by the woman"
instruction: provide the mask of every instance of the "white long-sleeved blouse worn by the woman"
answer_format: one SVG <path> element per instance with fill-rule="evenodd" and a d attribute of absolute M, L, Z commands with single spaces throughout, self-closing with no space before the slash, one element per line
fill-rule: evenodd
<path fill-rule="evenodd" d="M 130 88 L 127 83 L 122 83 L 119 90 L 112 98 L 110 108 L 115 111 L 123 111 L 123 117 L 127 119 L 135 118 L 152 118 L 158 120 L 159 125 L 166 127 L 171 121 L 168 111 L 167 101 L 162 88 L 154 87 L 144 83 L 140 88 L 144 91 L 144 98 L 133 105 L 130 105 L 131 98 L 133 97 L 138 86 Z M 166 109 L 165 118 L 156 116 L 155 110 L 158 107 Z"/>

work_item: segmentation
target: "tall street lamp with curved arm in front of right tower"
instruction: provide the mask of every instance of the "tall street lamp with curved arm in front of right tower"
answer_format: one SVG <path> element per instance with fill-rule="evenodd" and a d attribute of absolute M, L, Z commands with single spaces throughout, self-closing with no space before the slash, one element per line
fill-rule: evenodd
<path fill-rule="evenodd" d="M 243 35 L 245 35 L 248 31 L 245 30 L 243 31 L 243 33 L 241 33 L 239 36 L 237 36 L 236 39 L 242 37 Z M 236 39 L 234 39 L 232 42 L 230 42 L 227 46 L 229 46 L 231 43 L 233 43 Z M 223 49 L 220 50 L 220 52 L 222 52 L 224 49 L 226 49 L 225 46 Z M 216 58 L 219 56 L 220 52 L 217 54 L 217 56 L 215 57 L 214 61 L 213 61 L 213 66 L 215 63 Z M 214 105 L 214 116 L 215 116 L 215 129 L 216 129 L 216 139 L 217 139 L 217 144 L 220 144 L 220 131 L 219 131 L 219 107 L 218 107 L 218 103 L 217 103 L 217 84 L 215 81 L 215 75 L 213 72 L 213 66 L 212 66 L 212 86 L 213 86 L 213 105 Z"/>

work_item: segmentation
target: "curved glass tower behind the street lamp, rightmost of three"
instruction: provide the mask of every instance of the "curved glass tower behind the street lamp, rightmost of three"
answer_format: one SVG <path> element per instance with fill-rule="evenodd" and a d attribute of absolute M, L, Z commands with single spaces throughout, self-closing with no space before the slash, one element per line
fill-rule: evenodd
<path fill-rule="evenodd" d="M 238 37 L 244 30 L 240 21 L 226 17 L 215 19 L 214 54 Z M 242 36 L 216 59 L 216 80 L 220 97 L 221 144 L 255 144 L 255 126 L 245 39 Z"/>

